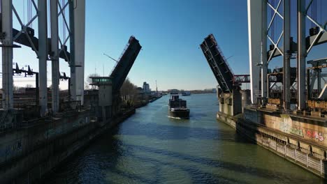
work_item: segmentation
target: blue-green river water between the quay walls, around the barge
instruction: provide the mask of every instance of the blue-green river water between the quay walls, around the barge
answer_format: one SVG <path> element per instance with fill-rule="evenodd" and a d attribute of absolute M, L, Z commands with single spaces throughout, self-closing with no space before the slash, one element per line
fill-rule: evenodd
<path fill-rule="evenodd" d="M 189 120 L 167 117 L 168 98 L 137 109 L 47 183 L 324 183 L 217 122 L 215 94 L 183 97 Z"/>

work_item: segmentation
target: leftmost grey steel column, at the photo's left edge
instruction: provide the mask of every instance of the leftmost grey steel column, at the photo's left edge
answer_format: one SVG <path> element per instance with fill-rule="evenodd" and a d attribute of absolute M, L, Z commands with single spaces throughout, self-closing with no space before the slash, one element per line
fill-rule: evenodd
<path fill-rule="evenodd" d="M 2 107 L 13 109 L 13 1 L 0 1 L 2 13 Z"/>

